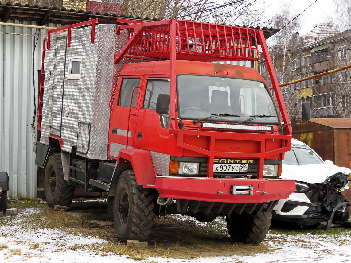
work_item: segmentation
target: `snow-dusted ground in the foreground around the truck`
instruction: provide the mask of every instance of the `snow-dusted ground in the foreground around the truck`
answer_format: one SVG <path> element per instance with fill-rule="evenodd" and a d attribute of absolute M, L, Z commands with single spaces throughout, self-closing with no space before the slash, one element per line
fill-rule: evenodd
<path fill-rule="evenodd" d="M 28 208 L 20 210 L 17 217 L 0 218 L 0 261 L 1 262 L 27 262 L 27 263 L 125 263 L 139 262 L 127 256 L 104 254 L 99 249 L 87 250 L 86 245 L 99 245 L 107 241 L 95 237 L 68 234 L 60 229 L 31 230 L 21 225 L 24 217 L 40 214 L 40 209 Z M 176 215 L 179 220 L 200 223 L 188 216 Z M 214 222 L 223 225 L 223 218 Z M 30 223 L 30 222 L 29 222 Z M 28 222 L 26 221 L 26 225 Z M 230 256 L 196 259 L 176 258 L 148 258 L 147 261 L 158 263 L 329 263 L 350 262 L 351 258 L 351 231 L 343 235 L 276 235 L 268 234 L 263 244 L 270 247 L 270 251 L 250 256 Z M 146 262 L 147 262 L 146 261 Z"/>

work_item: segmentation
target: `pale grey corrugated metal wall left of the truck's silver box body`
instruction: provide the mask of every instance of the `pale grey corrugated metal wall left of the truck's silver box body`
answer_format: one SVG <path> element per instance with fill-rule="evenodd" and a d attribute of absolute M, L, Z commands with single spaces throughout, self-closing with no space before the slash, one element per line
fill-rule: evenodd
<path fill-rule="evenodd" d="M 35 22 L 19 20 L 7 22 L 37 25 Z M 34 107 L 34 97 L 38 105 L 38 70 L 41 68 L 42 43 L 45 36 L 38 38 L 33 35 L 46 35 L 47 30 L 0 26 L 0 32 L 0 170 L 7 171 L 9 175 L 9 196 L 36 198 L 37 167 L 32 149 L 38 136 L 37 112 L 34 121 L 35 136 L 32 120 L 34 110 L 37 110 Z"/>

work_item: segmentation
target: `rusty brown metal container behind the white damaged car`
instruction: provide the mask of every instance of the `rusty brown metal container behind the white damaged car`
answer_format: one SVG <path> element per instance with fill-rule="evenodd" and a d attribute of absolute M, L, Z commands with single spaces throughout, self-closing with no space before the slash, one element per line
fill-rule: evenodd
<path fill-rule="evenodd" d="M 312 118 L 306 124 L 293 127 L 292 137 L 306 143 L 323 160 L 351 167 L 351 119 Z M 344 193 L 351 201 L 351 190 Z"/>

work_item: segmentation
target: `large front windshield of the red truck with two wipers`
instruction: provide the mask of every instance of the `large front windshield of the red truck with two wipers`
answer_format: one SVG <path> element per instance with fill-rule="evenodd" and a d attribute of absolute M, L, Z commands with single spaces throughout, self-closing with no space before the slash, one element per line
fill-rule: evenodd
<path fill-rule="evenodd" d="M 178 116 L 206 121 L 278 123 L 278 114 L 265 84 L 223 76 L 178 75 Z M 237 116 L 235 116 L 237 115 Z M 250 119 L 251 116 L 266 115 Z"/>

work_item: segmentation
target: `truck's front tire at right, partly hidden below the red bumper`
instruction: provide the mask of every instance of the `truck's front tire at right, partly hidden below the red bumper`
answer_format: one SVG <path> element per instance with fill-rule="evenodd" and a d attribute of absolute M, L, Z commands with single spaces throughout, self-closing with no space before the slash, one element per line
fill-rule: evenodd
<path fill-rule="evenodd" d="M 259 244 L 268 234 L 272 213 L 232 213 L 227 216 L 227 229 L 234 242 Z"/>

